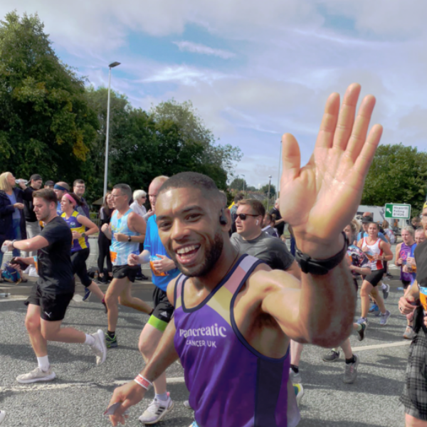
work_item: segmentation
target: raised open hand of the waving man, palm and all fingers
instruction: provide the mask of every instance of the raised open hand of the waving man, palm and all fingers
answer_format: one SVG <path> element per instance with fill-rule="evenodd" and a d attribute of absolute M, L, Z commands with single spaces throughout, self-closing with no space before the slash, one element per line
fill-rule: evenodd
<path fill-rule="evenodd" d="M 280 214 L 299 240 L 321 245 L 337 238 L 354 217 L 364 179 L 381 138 L 381 125 L 367 137 L 375 98 L 364 97 L 357 117 L 360 85 L 349 85 L 339 110 L 339 95 L 326 102 L 315 150 L 305 167 L 296 139 L 283 135 Z M 303 251 L 303 248 L 301 248 Z"/>

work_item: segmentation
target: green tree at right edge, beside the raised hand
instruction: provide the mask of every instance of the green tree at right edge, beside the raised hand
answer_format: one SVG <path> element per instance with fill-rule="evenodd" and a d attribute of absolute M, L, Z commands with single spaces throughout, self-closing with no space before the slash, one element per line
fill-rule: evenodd
<path fill-rule="evenodd" d="M 380 145 L 362 194 L 362 204 L 411 204 L 419 212 L 426 200 L 427 153 L 403 144 Z"/>

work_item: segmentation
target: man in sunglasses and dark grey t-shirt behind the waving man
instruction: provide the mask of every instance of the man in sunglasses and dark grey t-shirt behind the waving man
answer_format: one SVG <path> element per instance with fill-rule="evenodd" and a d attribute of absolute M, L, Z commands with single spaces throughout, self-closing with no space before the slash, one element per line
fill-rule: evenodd
<path fill-rule="evenodd" d="M 237 233 L 231 236 L 233 246 L 240 253 L 263 260 L 274 270 L 288 271 L 300 278 L 300 269 L 285 243 L 262 230 L 265 216 L 263 204 L 255 199 L 241 200 L 236 214 Z"/>

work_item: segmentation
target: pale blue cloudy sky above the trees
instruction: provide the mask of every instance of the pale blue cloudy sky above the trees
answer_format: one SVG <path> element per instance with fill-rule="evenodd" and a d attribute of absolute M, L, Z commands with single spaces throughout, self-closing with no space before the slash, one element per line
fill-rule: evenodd
<path fill-rule="evenodd" d="M 13 9 L 38 12 L 61 60 L 95 87 L 117 60 L 112 88 L 135 107 L 191 100 L 219 143 L 241 148 L 248 184 L 277 183 L 285 132 L 306 162 L 327 95 L 354 81 L 377 98 L 383 143 L 427 148 L 425 2 L 1 1 L 2 16 Z"/>

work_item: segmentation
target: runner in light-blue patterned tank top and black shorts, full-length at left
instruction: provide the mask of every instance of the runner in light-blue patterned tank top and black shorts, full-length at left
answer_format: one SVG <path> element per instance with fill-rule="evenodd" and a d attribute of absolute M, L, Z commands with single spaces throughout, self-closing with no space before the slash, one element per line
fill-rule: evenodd
<path fill-rule="evenodd" d="M 119 302 L 140 312 L 151 313 L 152 308 L 139 298 L 132 297 L 138 267 L 127 264 L 130 253 L 139 253 L 139 243 L 144 242 L 145 221 L 129 207 L 132 190 L 127 184 L 116 184 L 112 189 L 112 213 L 109 224 L 102 226 L 102 233 L 111 240 L 112 282 L 105 293 L 108 308 L 108 330 L 105 334 L 107 347 L 117 347 L 115 328 L 119 317 Z"/>

